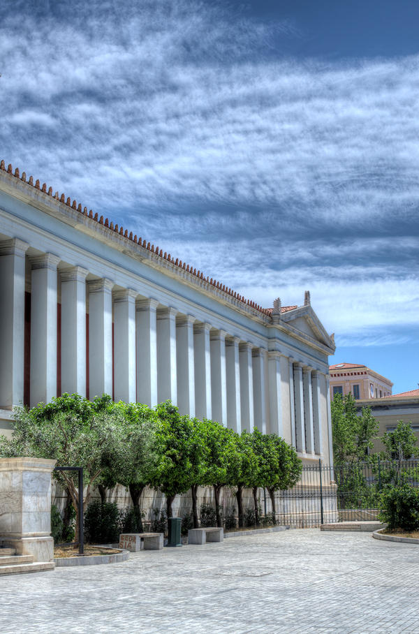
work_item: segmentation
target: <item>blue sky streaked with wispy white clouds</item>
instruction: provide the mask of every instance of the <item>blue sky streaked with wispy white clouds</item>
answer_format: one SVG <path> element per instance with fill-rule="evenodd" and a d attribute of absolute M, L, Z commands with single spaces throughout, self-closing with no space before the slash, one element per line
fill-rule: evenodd
<path fill-rule="evenodd" d="M 419 381 L 417 3 L 6 0 L 1 158 Z"/>

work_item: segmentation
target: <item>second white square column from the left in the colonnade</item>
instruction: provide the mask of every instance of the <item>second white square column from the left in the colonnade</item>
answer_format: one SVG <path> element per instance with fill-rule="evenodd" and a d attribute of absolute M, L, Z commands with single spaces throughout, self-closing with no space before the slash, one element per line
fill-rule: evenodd
<path fill-rule="evenodd" d="M 31 258 L 31 407 L 57 396 L 57 265 L 52 253 Z"/>

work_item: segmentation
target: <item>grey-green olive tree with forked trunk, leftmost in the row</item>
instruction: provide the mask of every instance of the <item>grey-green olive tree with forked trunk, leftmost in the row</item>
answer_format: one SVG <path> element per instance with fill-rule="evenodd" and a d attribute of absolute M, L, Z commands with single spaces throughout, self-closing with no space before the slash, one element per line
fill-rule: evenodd
<path fill-rule="evenodd" d="M 71 401 L 74 407 L 71 406 Z M 95 408 L 78 395 L 63 395 L 31 410 L 15 408 L 15 427 L 10 440 L 0 439 L 0 455 L 33 456 L 57 460 L 57 466 L 82 466 L 84 505 L 89 503 L 98 478 L 126 459 L 124 420 L 117 410 Z M 45 415 L 43 415 L 45 413 Z M 78 540 L 78 478 L 75 473 L 54 471 L 66 488 L 76 513 Z"/>

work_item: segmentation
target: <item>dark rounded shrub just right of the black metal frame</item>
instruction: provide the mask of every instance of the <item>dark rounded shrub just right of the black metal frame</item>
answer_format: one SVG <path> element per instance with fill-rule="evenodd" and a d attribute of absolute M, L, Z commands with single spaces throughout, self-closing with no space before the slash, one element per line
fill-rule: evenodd
<path fill-rule="evenodd" d="M 94 501 L 84 514 L 86 541 L 93 544 L 112 544 L 122 533 L 122 513 L 115 502 Z"/>

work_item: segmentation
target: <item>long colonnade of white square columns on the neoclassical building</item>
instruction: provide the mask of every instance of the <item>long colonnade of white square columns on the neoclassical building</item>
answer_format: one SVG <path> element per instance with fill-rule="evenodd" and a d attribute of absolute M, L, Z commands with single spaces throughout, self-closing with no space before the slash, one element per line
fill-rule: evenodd
<path fill-rule="evenodd" d="M 321 454 L 318 371 L 268 350 L 269 340 L 266 348 L 255 346 L 158 297 L 108 277 L 92 279 L 82 266 L 59 266 L 52 253 L 26 255 L 28 246 L 15 238 L 0 242 L 0 408 L 22 403 L 27 371 L 31 406 L 64 392 L 90 399 L 108 393 L 149 406 L 170 399 L 191 417 L 283 436 L 285 394 L 293 445 Z"/>

